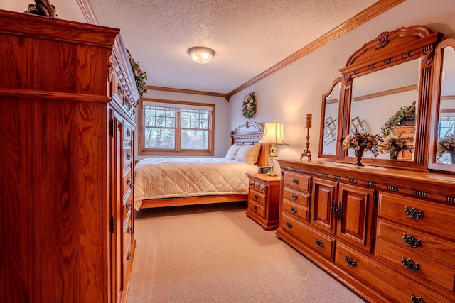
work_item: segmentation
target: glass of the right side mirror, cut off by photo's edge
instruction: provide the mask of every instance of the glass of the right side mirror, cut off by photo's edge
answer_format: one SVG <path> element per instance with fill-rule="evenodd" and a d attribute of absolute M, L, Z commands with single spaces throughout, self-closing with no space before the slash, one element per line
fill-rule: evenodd
<path fill-rule="evenodd" d="M 444 48 L 436 162 L 455 164 L 455 50 Z"/>

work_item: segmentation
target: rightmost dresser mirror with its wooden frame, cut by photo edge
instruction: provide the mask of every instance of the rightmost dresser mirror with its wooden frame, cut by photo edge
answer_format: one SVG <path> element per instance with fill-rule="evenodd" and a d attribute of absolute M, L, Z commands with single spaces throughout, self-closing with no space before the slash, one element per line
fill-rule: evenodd
<path fill-rule="evenodd" d="M 429 168 L 455 172 L 455 39 L 437 47 L 434 84 Z"/>

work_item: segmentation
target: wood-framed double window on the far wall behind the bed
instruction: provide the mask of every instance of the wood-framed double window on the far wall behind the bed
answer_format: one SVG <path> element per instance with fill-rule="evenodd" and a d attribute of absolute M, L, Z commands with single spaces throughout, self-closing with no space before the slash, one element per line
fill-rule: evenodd
<path fill-rule="evenodd" d="M 213 155 L 215 105 L 143 99 L 139 155 Z"/>

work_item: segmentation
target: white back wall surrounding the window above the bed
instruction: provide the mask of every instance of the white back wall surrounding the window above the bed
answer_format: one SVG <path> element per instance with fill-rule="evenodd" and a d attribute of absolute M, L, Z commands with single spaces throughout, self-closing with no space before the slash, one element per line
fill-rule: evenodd
<path fill-rule="evenodd" d="M 198 94 L 181 94 L 174 92 L 163 92 L 163 91 L 151 91 L 147 90 L 147 93 L 144 94 L 144 98 L 152 99 L 161 99 L 161 100 L 171 100 L 171 101 L 187 101 L 187 102 L 198 102 L 205 104 L 215 104 L 215 157 L 224 157 L 228 152 L 230 146 L 230 102 L 228 102 L 223 97 L 211 97 L 211 96 L 202 96 Z M 137 121 L 139 115 L 136 115 L 136 125 L 140 123 Z M 237 127 L 237 126 L 236 126 Z M 235 128 L 232 128 L 234 130 Z M 139 147 L 137 145 L 138 131 L 135 133 L 135 148 L 137 152 Z M 134 156 L 136 160 L 141 160 L 148 158 L 149 156 Z"/>

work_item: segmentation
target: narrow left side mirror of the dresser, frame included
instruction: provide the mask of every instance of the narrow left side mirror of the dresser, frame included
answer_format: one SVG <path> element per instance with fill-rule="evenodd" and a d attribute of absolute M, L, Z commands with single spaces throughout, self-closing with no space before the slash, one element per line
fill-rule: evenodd
<path fill-rule="evenodd" d="M 336 158 L 342 79 L 342 77 L 338 77 L 333 80 L 328 91 L 322 95 L 320 158 Z"/>

